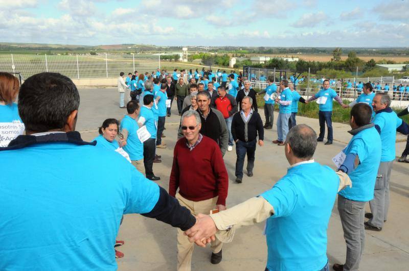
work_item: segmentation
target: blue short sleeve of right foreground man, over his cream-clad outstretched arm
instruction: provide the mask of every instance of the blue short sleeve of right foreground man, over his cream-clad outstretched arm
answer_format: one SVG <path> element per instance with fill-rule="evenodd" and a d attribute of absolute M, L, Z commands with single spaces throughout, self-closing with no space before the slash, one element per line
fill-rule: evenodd
<path fill-rule="evenodd" d="M 298 194 L 294 185 L 286 179 L 281 179 L 270 190 L 260 194 L 272 207 L 272 217 L 288 216 L 294 210 L 298 200 Z"/>

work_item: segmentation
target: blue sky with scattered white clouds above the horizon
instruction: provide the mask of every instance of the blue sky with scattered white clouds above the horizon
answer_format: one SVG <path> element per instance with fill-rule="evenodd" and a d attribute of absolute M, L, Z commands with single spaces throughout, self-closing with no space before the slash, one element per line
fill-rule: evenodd
<path fill-rule="evenodd" d="M 409 0 L 0 0 L 0 42 L 408 47 Z"/>

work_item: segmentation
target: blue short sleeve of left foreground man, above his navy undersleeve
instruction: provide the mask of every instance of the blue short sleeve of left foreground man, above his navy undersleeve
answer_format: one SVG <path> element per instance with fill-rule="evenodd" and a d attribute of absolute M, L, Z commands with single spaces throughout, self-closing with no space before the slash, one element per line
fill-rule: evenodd
<path fill-rule="evenodd" d="M 144 214 L 152 211 L 159 199 L 159 186 L 145 178 L 130 165 L 131 187 L 126 201 L 124 214 Z"/>

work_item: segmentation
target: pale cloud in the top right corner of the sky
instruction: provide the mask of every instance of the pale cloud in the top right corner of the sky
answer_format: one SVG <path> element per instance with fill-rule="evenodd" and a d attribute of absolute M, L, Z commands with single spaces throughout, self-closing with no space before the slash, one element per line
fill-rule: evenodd
<path fill-rule="evenodd" d="M 409 21 L 407 11 L 409 10 L 409 1 L 393 0 L 387 3 L 379 4 L 372 9 L 378 13 L 379 18 L 391 21 Z"/>

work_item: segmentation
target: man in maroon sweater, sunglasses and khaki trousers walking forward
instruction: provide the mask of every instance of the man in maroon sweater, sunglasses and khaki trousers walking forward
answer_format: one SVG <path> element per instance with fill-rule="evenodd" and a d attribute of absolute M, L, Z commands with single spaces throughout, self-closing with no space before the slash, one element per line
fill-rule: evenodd
<path fill-rule="evenodd" d="M 186 111 L 181 118 L 180 138 L 173 151 L 173 165 L 169 180 L 169 194 L 192 214 L 210 213 L 213 209 L 225 210 L 229 176 L 217 143 L 199 133 L 199 113 Z M 179 188 L 178 193 L 176 193 Z M 222 243 L 212 242 L 211 262 L 221 261 Z M 177 232 L 177 269 L 190 270 L 193 244 Z"/>

